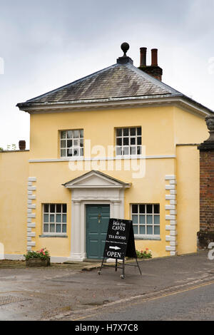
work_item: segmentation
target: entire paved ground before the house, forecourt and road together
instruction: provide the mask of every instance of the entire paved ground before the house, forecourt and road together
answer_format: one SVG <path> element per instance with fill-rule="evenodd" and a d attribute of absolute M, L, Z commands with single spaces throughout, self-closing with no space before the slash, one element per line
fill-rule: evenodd
<path fill-rule="evenodd" d="M 108 267 L 98 276 L 79 264 L 0 266 L 0 321 L 213 318 L 214 261 L 207 252 L 139 264 L 142 275 L 126 267 L 125 279 Z"/>

